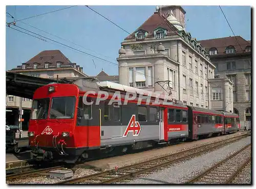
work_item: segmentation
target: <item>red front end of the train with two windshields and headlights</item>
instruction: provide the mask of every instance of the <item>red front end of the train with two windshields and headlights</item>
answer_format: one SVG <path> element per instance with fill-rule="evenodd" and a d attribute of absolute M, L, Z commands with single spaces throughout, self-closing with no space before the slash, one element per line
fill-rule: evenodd
<path fill-rule="evenodd" d="M 31 158 L 75 161 L 78 94 L 74 84 L 48 84 L 35 91 L 28 132 Z"/>

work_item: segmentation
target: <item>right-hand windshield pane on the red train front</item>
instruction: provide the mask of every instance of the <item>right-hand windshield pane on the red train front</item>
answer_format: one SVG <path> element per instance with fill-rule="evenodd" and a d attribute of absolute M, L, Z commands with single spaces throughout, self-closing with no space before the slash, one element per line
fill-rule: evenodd
<path fill-rule="evenodd" d="M 52 98 L 50 119 L 72 119 L 75 110 L 75 97 Z"/>

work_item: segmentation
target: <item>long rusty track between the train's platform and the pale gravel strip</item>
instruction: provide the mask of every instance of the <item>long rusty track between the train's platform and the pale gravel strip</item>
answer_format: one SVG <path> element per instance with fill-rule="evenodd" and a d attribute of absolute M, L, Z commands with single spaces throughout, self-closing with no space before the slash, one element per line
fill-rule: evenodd
<path fill-rule="evenodd" d="M 234 143 L 247 136 L 248 136 L 247 134 L 244 134 L 242 136 L 236 136 L 236 137 L 224 139 L 221 141 L 217 141 L 216 143 L 200 146 L 198 148 L 189 149 L 183 152 L 166 155 L 156 159 L 132 164 L 131 166 L 118 168 L 117 170 L 114 169 L 114 170 L 103 171 L 103 172 L 96 173 L 89 176 L 83 176 L 79 178 L 57 182 L 56 184 L 73 184 L 73 183 L 106 184 L 106 183 L 119 182 L 121 180 L 130 180 L 130 179 L 133 179 L 133 177 L 140 175 L 142 173 L 156 170 L 156 169 L 168 166 L 169 164 L 201 155 L 202 153 L 205 153 L 207 151 L 221 148 L 225 145 Z"/>

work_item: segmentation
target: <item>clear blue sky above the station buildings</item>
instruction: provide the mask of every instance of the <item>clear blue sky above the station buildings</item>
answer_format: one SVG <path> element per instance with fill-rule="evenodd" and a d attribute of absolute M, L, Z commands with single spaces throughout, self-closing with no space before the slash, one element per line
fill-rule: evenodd
<path fill-rule="evenodd" d="M 68 6 L 6 6 L 6 12 L 19 20 L 65 7 Z M 130 33 L 142 25 L 156 10 L 156 6 L 90 7 Z M 219 6 L 182 7 L 186 11 L 185 30 L 197 40 L 233 36 Z M 234 34 L 251 40 L 251 7 L 221 7 Z M 7 22 L 13 21 L 8 14 L 6 15 Z M 39 31 L 27 24 L 55 36 Z M 17 21 L 16 26 L 69 45 L 84 53 L 106 59 L 114 64 L 118 64 L 116 58 L 119 56 L 120 43 L 129 35 L 86 6 L 76 6 Z M 24 31 L 17 27 L 15 29 Z M 77 52 L 50 40 L 42 41 L 6 27 L 6 70 L 21 65 L 41 51 L 56 49 L 60 50 L 71 62 L 76 62 L 82 66 L 83 72 L 89 76 L 96 76 L 101 69 L 109 75 L 118 75 L 117 65 Z"/>

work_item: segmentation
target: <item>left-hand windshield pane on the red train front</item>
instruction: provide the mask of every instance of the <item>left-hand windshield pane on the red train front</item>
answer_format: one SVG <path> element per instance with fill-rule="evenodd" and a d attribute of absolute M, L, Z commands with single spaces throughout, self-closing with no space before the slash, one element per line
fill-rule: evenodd
<path fill-rule="evenodd" d="M 48 115 L 49 104 L 50 104 L 49 98 L 33 100 L 31 120 L 46 119 Z"/>

